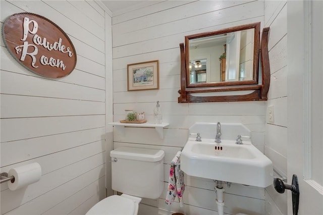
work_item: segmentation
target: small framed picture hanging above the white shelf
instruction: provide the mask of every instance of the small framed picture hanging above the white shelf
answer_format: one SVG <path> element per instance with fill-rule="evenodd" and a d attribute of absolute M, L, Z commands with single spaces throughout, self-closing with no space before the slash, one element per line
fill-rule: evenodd
<path fill-rule="evenodd" d="M 159 89 L 159 61 L 128 64 L 128 91 Z"/>

